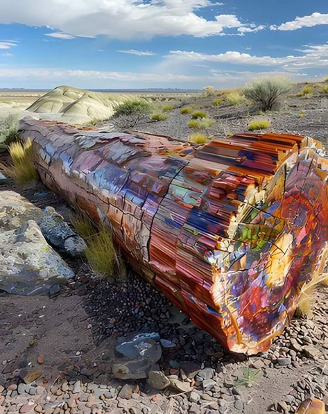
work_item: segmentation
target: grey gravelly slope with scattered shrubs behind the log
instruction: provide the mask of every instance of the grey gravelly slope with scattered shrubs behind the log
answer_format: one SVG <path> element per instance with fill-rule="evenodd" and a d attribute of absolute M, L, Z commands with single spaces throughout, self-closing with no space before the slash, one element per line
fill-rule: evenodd
<path fill-rule="evenodd" d="M 216 107 L 212 103 L 215 96 L 205 97 L 202 94 L 183 98 L 177 96 L 175 109 L 166 112 L 166 121 L 153 122 L 144 119 L 144 122 L 138 123 L 134 129 L 188 139 L 188 136 L 195 131 L 187 127 L 187 122 L 191 119 L 190 114 L 180 114 L 180 107 L 193 105 L 196 109 L 205 110 L 208 117 L 216 120 L 214 126 L 207 130 L 207 135 L 212 137 L 247 132 L 250 121 L 266 119 L 270 121 L 271 126 L 263 132 L 307 135 L 327 144 L 328 96 L 318 93 L 322 85 L 314 86 L 312 96 L 297 96 L 305 86 L 305 84 L 294 85 L 293 89 L 282 97 L 279 110 L 266 114 L 259 114 L 245 103 L 233 106 L 223 102 Z M 121 122 L 116 124 L 115 119 L 99 123 L 98 126 L 106 128 L 113 123 L 115 129 L 121 130 Z"/>

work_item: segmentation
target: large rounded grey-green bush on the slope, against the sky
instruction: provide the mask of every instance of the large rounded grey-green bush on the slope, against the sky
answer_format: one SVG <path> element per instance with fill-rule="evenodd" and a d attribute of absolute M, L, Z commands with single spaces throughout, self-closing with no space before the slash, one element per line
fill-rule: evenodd
<path fill-rule="evenodd" d="M 291 83 L 287 78 L 260 78 L 252 80 L 250 85 L 243 89 L 243 93 L 252 103 L 259 105 L 264 112 L 270 111 L 278 103 L 282 94 L 291 90 Z"/>

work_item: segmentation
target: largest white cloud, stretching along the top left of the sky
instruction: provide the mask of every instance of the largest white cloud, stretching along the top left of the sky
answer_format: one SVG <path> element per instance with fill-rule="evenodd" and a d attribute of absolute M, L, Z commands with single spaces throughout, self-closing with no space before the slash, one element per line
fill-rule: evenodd
<path fill-rule="evenodd" d="M 0 1 L 0 23 L 49 26 L 73 36 L 105 35 L 121 40 L 154 36 L 223 35 L 225 28 L 249 27 L 235 15 L 209 20 L 197 10 L 209 0 L 26 0 Z M 254 29 L 254 28 L 252 28 Z"/>

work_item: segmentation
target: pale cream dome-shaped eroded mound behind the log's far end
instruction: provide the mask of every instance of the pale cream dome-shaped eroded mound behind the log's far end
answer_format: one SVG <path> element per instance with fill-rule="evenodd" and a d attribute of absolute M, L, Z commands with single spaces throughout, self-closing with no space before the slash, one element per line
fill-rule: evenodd
<path fill-rule="evenodd" d="M 58 86 L 37 99 L 26 111 L 34 112 L 42 119 L 88 123 L 94 119 L 109 119 L 114 114 L 115 105 L 132 98 L 136 98 L 136 95 L 91 92 L 70 86 Z"/>

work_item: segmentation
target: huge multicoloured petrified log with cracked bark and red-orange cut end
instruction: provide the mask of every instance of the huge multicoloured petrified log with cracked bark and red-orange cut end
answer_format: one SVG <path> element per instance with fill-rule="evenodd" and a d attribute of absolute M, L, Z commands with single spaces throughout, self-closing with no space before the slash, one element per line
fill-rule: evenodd
<path fill-rule="evenodd" d="M 24 119 L 44 183 L 107 223 L 132 266 L 233 352 L 264 352 L 321 272 L 327 159 L 311 138 L 193 146 Z"/>

